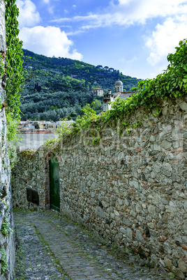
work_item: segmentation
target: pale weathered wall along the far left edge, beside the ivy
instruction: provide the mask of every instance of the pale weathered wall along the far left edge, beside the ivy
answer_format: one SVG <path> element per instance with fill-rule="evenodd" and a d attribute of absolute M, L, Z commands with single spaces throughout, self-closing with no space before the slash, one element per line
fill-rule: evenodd
<path fill-rule="evenodd" d="M 0 0 L 0 58 L 3 65 L 6 63 L 6 31 L 5 31 L 5 6 L 4 1 Z M 14 229 L 13 224 L 13 208 L 12 197 L 10 189 L 10 164 L 8 159 L 8 150 L 6 142 L 6 115 L 5 103 L 6 95 L 4 91 L 5 82 L 0 76 L 0 279 L 13 279 L 13 270 L 15 265 L 15 244 L 14 235 L 9 233 L 8 236 L 3 235 L 2 228 L 4 228 L 4 221 L 7 221 L 7 227 Z M 7 220 L 5 220 L 7 219 Z M 5 274 L 2 274 L 5 263 L 3 262 L 3 254 L 6 254 L 6 262 L 8 268 Z"/>

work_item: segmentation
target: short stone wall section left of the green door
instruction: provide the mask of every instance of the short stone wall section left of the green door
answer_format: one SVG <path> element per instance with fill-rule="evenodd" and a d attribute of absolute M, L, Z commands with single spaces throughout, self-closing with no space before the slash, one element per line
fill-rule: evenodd
<path fill-rule="evenodd" d="M 51 155 L 51 154 L 50 154 Z M 50 155 L 42 149 L 22 150 L 12 170 L 13 208 L 50 209 Z M 38 203 L 27 200 L 27 189 L 38 192 Z"/>

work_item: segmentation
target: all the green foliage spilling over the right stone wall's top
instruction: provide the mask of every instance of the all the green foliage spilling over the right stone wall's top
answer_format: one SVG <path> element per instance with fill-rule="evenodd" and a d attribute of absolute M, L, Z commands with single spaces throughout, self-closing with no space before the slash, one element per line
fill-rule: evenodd
<path fill-rule="evenodd" d="M 82 118 L 77 118 L 70 127 L 67 137 L 72 137 L 85 129 L 100 130 L 107 126 L 113 126 L 120 121 L 121 129 L 125 128 L 130 132 L 130 127 L 137 127 L 140 122 L 128 123 L 125 120 L 127 116 L 135 113 L 135 110 L 143 107 L 145 111 L 155 111 L 155 115 L 160 113 L 163 100 L 170 98 L 180 98 L 187 95 L 187 40 L 179 42 L 174 54 L 167 56 L 169 65 L 163 74 L 154 79 L 139 81 L 140 92 L 131 95 L 127 100 L 117 98 L 112 103 L 112 109 L 106 111 L 101 116 L 94 114 L 89 106 L 84 108 Z M 120 131 L 120 130 L 119 130 Z M 59 139 L 61 140 L 60 134 Z M 65 139 L 63 135 L 63 139 Z M 99 140 L 99 139 L 98 139 Z"/>

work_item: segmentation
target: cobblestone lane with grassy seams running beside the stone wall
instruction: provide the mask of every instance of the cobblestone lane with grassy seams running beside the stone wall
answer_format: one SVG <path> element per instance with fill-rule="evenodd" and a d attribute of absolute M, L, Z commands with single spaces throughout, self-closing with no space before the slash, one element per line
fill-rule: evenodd
<path fill-rule="evenodd" d="M 17 263 L 22 279 L 170 279 L 148 261 L 106 244 L 56 212 L 15 210 Z"/>

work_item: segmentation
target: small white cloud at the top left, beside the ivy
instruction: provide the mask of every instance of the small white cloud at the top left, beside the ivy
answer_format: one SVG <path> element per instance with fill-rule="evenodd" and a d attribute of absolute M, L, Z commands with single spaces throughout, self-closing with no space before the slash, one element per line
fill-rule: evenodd
<path fill-rule="evenodd" d="M 17 0 L 17 7 L 20 10 L 18 17 L 19 27 L 22 26 L 34 26 L 40 22 L 40 15 L 36 11 L 36 6 L 30 0 Z"/>

